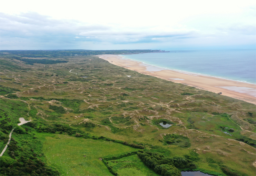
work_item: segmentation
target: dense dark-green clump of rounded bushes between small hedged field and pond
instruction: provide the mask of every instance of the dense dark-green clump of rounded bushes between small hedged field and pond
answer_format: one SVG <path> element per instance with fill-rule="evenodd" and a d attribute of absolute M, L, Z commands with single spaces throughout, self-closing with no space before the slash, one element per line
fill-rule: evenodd
<path fill-rule="evenodd" d="M 173 174 L 173 176 L 180 175 L 177 169 L 195 169 L 196 165 L 184 157 L 165 157 L 160 153 L 153 153 L 150 151 L 138 151 L 139 158 L 149 167 L 154 169 L 155 172 L 161 175 Z"/>

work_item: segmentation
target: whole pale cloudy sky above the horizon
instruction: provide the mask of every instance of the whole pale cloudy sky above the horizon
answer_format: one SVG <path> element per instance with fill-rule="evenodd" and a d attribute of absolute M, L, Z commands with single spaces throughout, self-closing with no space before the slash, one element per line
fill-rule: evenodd
<path fill-rule="evenodd" d="M 256 47 L 255 0 L 8 0 L 0 49 Z"/>

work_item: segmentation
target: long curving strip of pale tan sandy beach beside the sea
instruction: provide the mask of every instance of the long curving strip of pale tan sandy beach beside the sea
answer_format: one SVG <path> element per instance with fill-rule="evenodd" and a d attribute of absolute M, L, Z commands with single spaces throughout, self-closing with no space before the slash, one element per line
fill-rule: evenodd
<path fill-rule="evenodd" d="M 151 75 L 157 78 L 194 86 L 211 92 L 222 92 L 222 95 L 240 99 L 256 104 L 256 85 L 233 80 L 208 77 L 195 73 L 167 70 L 150 66 L 139 61 L 124 59 L 118 55 L 100 55 L 99 58 L 109 61 L 120 67 L 134 70 L 139 73 Z"/>

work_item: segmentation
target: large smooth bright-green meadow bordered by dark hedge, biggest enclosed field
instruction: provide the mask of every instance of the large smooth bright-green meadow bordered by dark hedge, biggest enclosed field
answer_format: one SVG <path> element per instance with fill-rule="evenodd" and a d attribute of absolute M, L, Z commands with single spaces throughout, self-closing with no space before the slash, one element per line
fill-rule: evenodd
<path fill-rule="evenodd" d="M 47 164 L 58 168 L 65 175 L 112 175 L 99 158 L 134 150 L 118 143 L 63 134 L 46 134 L 43 142 Z"/>

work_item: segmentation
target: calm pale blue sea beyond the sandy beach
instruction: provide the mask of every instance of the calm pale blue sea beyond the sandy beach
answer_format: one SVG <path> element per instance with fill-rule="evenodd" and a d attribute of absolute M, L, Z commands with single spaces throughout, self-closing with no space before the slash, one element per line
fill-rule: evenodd
<path fill-rule="evenodd" d="M 166 51 L 170 52 L 121 56 L 165 69 L 256 84 L 255 49 L 166 49 Z"/>

